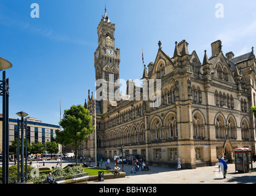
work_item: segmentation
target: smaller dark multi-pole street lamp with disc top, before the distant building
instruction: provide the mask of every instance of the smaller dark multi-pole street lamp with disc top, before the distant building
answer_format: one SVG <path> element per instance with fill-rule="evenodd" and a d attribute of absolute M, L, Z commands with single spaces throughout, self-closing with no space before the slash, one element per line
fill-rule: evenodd
<path fill-rule="evenodd" d="M 25 177 L 25 180 L 26 180 L 26 168 L 25 168 L 25 173 L 24 173 L 24 132 L 23 132 L 23 129 L 25 128 L 25 134 L 26 134 L 26 121 L 25 121 L 25 124 L 23 124 L 23 118 L 28 116 L 28 114 L 25 113 L 24 111 L 19 111 L 19 112 L 16 113 L 16 115 L 18 115 L 22 118 L 21 121 L 18 119 L 18 132 L 21 129 L 21 134 L 22 134 L 22 138 L 21 138 L 21 140 L 22 140 L 21 141 L 22 151 L 20 153 L 20 156 L 21 156 L 21 162 L 20 162 L 20 164 L 21 164 L 21 174 L 20 174 L 20 171 L 18 170 L 17 175 L 18 175 L 18 179 L 20 178 L 21 183 L 23 183 L 24 182 L 24 177 Z M 18 137 L 18 143 L 19 143 L 19 140 L 20 140 L 20 138 Z M 25 146 L 27 146 L 27 137 L 25 137 Z M 18 149 L 19 149 L 19 146 L 18 146 Z M 25 156 L 27 157 L 26 151 L 27 151 L 27 149 L 25 149 Z M 27 165 L 27 158 L 26 158 L 25 161 L 26 161 L 26 165 Z M 18 183 L 19 183 L 19 180 L 18 180 Z"/>

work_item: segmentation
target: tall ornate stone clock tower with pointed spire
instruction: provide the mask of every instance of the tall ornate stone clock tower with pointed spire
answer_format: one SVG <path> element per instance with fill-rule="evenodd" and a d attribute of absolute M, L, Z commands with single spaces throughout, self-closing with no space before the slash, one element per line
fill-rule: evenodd
<path fill-rule="evenodd" d="M 115 24 L 111 23 L 105 8 L 105 14 L 97 27 L 98 48 L 94 53 L 95 78 L 103 79 L 106 83 L 106 88 L 103 88 L 101 95 L 106 98 L 101 101 L 102 113 L 107 111 L 108 100 L 114 100 L 114 92 L 119 89 L 117 80 L 119 79 L 120 49 L 114 48 L 114 30 Z"/>

